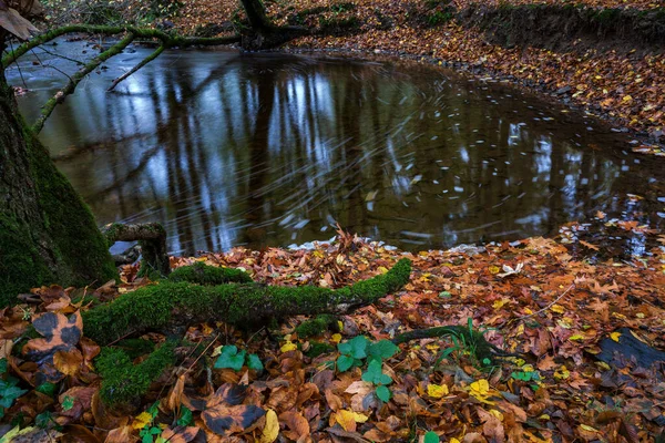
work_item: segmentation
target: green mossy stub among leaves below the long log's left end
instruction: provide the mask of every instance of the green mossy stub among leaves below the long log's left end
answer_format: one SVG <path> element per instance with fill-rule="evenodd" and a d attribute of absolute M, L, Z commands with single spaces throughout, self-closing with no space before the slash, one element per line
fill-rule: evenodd
<path fill-rule="evenodd" d="M 95 360 L 102 375 L 101 399 L 110 405 L 131 404 L 143 396 L 152 382 L 175 362 L 175 342 L 167 341 L 143 362 L 133 364 L 121 349 L 104 348 Z"/>

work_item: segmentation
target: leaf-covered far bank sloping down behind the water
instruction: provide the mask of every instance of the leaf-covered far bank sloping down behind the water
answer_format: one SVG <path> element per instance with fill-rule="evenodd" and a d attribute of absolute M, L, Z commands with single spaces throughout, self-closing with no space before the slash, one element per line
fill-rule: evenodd
<path fill-rule="evenodd" d="M 480 3 L 298 0 L 267 4 L 277 23 L 318 31 L 290 42 L 290 49 L 397 54 L 490 75 L 582 107 L 618 130 L 651 134 L 651 142 L 633 151 L 665 155 L 663 145 L 654 143 L 663 142 L 665 127 L 665 38 L 661 31 L 637 34 L 641 27 L 663 28 L 662 2 Z M 585 14 L 580 8 L 593 10 Z M 228 23 L 238 13 L 235 0 L 186 0 L 175 22 L 195 32 L 209 23 Z M 497 31 L 503 25 L 509 29 Z"/>

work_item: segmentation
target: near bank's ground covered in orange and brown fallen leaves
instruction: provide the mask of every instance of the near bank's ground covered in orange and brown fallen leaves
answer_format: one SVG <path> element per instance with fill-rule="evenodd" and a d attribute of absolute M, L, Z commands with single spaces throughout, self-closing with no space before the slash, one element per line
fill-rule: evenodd
<path fill-rule="evenodd" d="M 616 229 L 665 243 L 636 224 Z M 556 239 L 419 254 L 341 233 L 311 250 L 235 248 L 173 258 L 174 267 L 204 261 L 243 268 L 256 281 L 283 286 L 345 287 L 403 257 L 413 271 L 403 290 L 311 337 L 295 332 L 301 317 L 270 333 L 192 324 L 182 337 L 191 346 L 176 350 L 176 365 L 135 409 L 115 414 L 100 401 L 93 364 L 100 347 L 78 336 L 62 346 L 68 328 L 82 327 L 79 313 L 88 307 L 73 300 L 83 289 L 34 289 L 31 305 L 1 311 L 0 357 L 11 375 L 3 375 L 0 391 L 4 421 L 29 424 L 23 436 L 33 440 L 20 441 L 44 442 L 60 435 L 69 442 L 197 442 L 204 435 L 208 442 L 264 443 L 663 441 L 665 371 L 641 367 L 630 350 L 635 343 L 665 347 L 665 254 L 656 247 L 643 258 L 606 259 L 582 240 L 583 231 L 571 224 Z M 123 269 L 123 280 L 92 297 L 108 301 L 149 284 L 136 279 L 136 266 Z M 58 321 L 43 339 L 14 344 L 48 316 Z M 474 342 L 448 337 L 388 346 L 378 368 L 364 361 L 374 352 L 370 343 L 383 349 L 396 333 L 442 324 L 484 332 L 514 357 L 478 361 Z M 143 339 L 164 341 L 157 333 Z M 23 351 L 12 356 L 12 346 Z M 342 370 L 340 351 L 348 348 L 359 352 L 358 365 Z M 42 358 L 31 361 L 27 349 Z M 623 357 L 613 356 L 617 349 Z M 258 357 L 263 371 L 244 359 L 236 369 L 215 368 L 245 351 Z M 389 379 L 378 382 L 383 375 Z M 388 401 L 379 400 L 380 383 Z M 228 423 L 221 426 L 219 419 Z"/>

